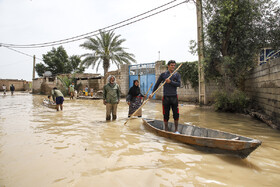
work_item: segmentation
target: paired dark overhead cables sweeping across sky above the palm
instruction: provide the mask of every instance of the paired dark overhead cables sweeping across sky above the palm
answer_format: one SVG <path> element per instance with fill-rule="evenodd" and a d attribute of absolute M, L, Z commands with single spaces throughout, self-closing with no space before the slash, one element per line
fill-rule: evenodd
<path fill-rule="evenodd" d="M 95 30 L 95 31 L 86 33 L 86 34 L 82 34 L 82 35 L 79 35 L 79 36 L 75 36 L 75 37 L 71 37 L 71 38 L 67 38 L 67 39 L 63 39 L 63 40 L 58 40 L 58 41 L 53 41 L 53 42 L 40 43 L 40 44 L 26 44 L 26 45 L 20 45 L 20 44 L 4 44 L 4 43 L 1 44 L 1 43 L 0 43 L 0 45 L 2 45 L 2 46 L 4 46 L 4 47 L 11 47 L 11 48 L 42 48 L 42 47 L 49 47 L 49 46 L 54 46 L 54 45 L 61 45 L 61 44 L 66 44 L 66 43 L 75 42 L 75 41 L 82 40 L 82 39 L 86 39 L 86 38 L 89 38 L 89 37 L 92 37 L 92 36 L 97 36 L 97 35 L 99 35 L 99 33 L 97 33 L 97 32 L 99 32 L 100 30 L 103 30 L 104 32 L 108 32 L 108 31 L 116 30 L 116 29 L 125 27 L 125 26 L 127 26 L 127 25 L 136 23 L 136 22 L 138 22 L 138 21 L 147 19 L 147 18 L 149 18 L 149 17 L 151 17 L 151 16 L 154 16 L 154 15 L 157 15 L 157 14 L 162 13 L 162 12 L 164 12 L 164 11 L 167 11 L 167 10 L 169 10 L 169 9 L 175 8 L 175 7 L 177 7 L 177 6 L 179 6 L 179 5 L 183 4 L 183 3 L 189 2 L 190 0 L 185 0 L 185 1 L 183 1 L 183 2 L 180 2 L 180 3 L 175 4 L 175 5 L 173 5 L 173 6 L 167 7 L 167 8 L 165 8 L 165 9 L 163 9 L 163 10 L 157 11 L 157 12 L 155 12 L 155 13 L 153 13 L 153 14 L 144 16 L 144 17 L 139 18 L 139 19 L 136 19 L 136 20 L 134 20 L 134 21 L 130 21 L 130 20 L 133 20 L 133 19 L 138 18 L 138 17 L 140 17 L 140 16 L 143 16 L 143 15 L 145 15 L 145 14 L 151 13 L 151 12 L 157 10 L 157 9 L 160 9 L 160 8 L 163 8 L 163 7 L 167 6 L 167 5 L 170 5 L 170 4 L 174 3 L 175 1 L 177 1 L 177 0 L 171 1 L 171 2 L 169 2 L 169 3 L 166 3 L 166 4 L 164 4 L 164 5 L 161 5 L 161 6 L 159 6 L 159 7 L 156 7 L 156 8 L 154 8 L 154 9 L 152 9 L 152 10 L 149 10 L 149 11 L 147 11 L 147 12 L 144 12 L 144 13 L 142 13 L 142 14 L 139 14 L 139 15 L 137 15 L 137 16 L 134 16 L 134 17 L 132 17 L 132 18 L 126 19 L 126 20 L 121 21 L 121 22 L 118 22 L 118 23 L 116 23 L 116 24 L 113 24 L 113 25 L 110 25 L 110 26 L 104 27 L 104 28 L 102 28 L 102 29 L 98 29 L 98 30 Z M 128 21 L 130 21 L 130 22 L 128 22 Z M 126 23 L 126 22 L 128 22 L 128 23 Z M 123 23 L 125 23 L 125 24 L 123 24 Z M 120 25 L 120 24 L 122 24 L 122 25 Z M 117 25 L 120 25 L 120 26 L 117 26 Z M 111 28 L 111 27 L 113 27 L 113 28 Z M 109 28 L 111 28 L 111 29 L 109 29 Z"/>

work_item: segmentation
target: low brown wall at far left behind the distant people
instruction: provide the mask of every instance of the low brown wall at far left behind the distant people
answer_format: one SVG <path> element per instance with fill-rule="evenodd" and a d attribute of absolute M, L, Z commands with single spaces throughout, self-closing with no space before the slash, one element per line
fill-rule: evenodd
<path fill-rule="evenodd" d="M 0 91 L 3 91 L 3 84 L 6 85 L 7 91 L 10 91 L 10 86 L 12 84 L 15 86 L 15 91 L 26 91 L 30 89 L 29 82 L 26 80 L 0 79 Z"/>

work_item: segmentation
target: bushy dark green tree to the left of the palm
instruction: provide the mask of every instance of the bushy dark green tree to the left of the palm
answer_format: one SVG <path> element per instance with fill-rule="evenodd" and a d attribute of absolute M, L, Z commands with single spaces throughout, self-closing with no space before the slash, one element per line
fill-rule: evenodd
<path fill-rule="evenodd" d="M 43 55 L 44 63 L 36 64 L 35 70 L 39 76 L 44 72 L 50 71 L 53 75 L 62 73 L 82 73 L 85 68 L 81 67 L 81 59 L 77 55 L 68 57 L 67 52 L 62 46 L 57 49 L 52 48 L 47 54 Z"/>

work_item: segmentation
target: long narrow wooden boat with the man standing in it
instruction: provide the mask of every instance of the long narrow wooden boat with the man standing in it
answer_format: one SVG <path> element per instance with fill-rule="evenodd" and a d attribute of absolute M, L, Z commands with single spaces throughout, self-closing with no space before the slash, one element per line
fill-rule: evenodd
<path fill-rule="evenodd" d="M 201 151 L 231 154 L 240 158 L 246 158 L 262 143 L 257 139 L 194 125 L 178 124 L 180 134 L 176 134 L 171 122 L 168 123 L 168 131 L 163 130 L 163 121 L 160 120 L 143 119 L 143 124 L 159 136 L 192 145 Z"/>

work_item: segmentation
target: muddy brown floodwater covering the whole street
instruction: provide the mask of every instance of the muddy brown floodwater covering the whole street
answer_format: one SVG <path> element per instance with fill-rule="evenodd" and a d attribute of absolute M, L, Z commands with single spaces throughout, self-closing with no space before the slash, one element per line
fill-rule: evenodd
<path fill-rule="evenodd" d="M 9 94 L 9 93 L 8 93 Z M 180 105 L 180 123 L 259 139 L 246 159 L 201 152 L 127 126 L 128 105 L 105 121 L 102 100 L 65 99 L 64 110 L 42 106 L 46 96 L 0 95 L 0 186 L 279 186 L 280 133 L 250 117 Z M 159 102 L 143 117 L 162 119 Z M 172 112 L 171 112 L 172 113 Z"/>

